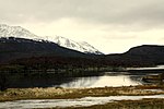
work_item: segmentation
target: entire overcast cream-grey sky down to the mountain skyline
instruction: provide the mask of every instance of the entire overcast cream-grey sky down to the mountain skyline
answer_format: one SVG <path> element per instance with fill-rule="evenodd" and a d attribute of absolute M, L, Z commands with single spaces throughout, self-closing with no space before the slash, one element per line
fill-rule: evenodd
<path fill-rule="evenodd" d="M 0 23 L 118 53 L 164 44 L 164 0 L 0 0 Z"/>

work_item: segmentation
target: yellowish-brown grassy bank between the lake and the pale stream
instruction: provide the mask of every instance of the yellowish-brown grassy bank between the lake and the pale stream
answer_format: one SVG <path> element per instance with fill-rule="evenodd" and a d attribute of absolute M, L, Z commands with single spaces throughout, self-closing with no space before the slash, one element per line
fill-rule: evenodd
<path fill-rule="evenodd" d="M 161 89 L 152 92 L 150 89 Z M 0 101 L 19 99 L 55 99 L 55 98 L 82 98 L 87 96 L 120 96 L 120 95 L 157 95 L 164 94 L 164 86 L 139 85 L 128 87 L 101 87 L 101 88 L 9 88 L 0 92 Z"/>

